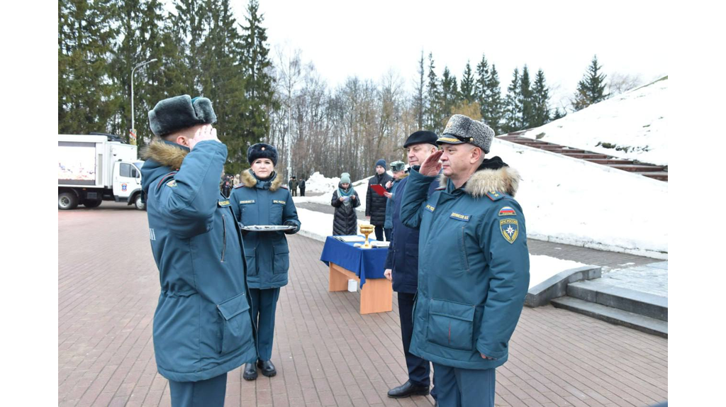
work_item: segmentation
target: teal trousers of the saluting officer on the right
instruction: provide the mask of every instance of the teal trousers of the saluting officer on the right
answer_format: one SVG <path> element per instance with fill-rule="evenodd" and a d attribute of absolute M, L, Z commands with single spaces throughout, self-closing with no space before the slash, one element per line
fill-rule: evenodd
<path fill-rule="evenodd" d="M 441 407 L 494 407 L 494 369 L 460 369 L 433 363 Z"/>

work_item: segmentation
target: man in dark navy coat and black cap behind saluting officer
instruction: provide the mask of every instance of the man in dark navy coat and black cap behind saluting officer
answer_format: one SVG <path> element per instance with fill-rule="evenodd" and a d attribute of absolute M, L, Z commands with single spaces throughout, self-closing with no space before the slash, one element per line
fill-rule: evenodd
<path fill-rule="evenodd" d="M 409 165 L 412 168 L 418 168 L 429 155 L 436 152 L 438 149 L 436 139 L 438 137 L 433 131 L 416 131 L 408 137 L 404 148 L 407 149 Z M 388 246 L 384 276 L 393 280 L 393 291 L 398 293 L 396 297 L 399 300 L 401 342 L 409 374 L 407 382 L 388 391 L 388 397 L 391 398 L 427 395 L 431 373 L 429 361 L 409 352 L 413 334 L 413 304 L 418 288 L 418 230 L 401 223 L 401 198 L 408 181 L 407 176 L 408 174 L 396 184 L 388 200 L 393 231 L 391 244 Z M 428 186 L 428 195 L 433 194 L 436 186 L 436 182 L 431 182 Z M 431 396 L 436 400 L 436 387 L 431 390 Z"/>

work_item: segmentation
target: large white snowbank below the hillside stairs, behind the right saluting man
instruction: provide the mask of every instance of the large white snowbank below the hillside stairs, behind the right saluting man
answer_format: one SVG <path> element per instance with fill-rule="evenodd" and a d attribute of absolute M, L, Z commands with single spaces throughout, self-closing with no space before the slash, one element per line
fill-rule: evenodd
<path fill-rule="evenodd" d="M 523 178 L 527 237 L 667 258 L 668 183 L 499 139 L 491 154 Z"/>

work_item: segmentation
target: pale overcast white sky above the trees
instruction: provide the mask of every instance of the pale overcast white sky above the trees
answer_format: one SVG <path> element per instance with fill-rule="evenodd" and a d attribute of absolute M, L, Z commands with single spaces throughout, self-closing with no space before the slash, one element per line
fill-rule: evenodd
<path fill-rule="evenodd" d="M 242 20 L 246 0 L 233 0 Z M 502 91 L 515 67 L 544 70 L 557 105 L 597 54 L 606 74 L 667 75 L 664 4 L 655 1 L 260 0 L 270 45 L 301 49 L 333 88 L 389 70 L 412 89 L 421 51 L 461 79 L 486 54 Z M 427 68 L 428 69 L 428 68 Z"/>

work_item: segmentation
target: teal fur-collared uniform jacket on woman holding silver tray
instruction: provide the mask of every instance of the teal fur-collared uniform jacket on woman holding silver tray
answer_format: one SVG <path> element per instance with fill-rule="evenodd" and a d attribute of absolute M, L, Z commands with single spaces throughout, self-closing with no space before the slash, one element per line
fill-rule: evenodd
<path fill-rule="evenodd" d="M 274 174 L 272 179 L 258 180 L 250 170 L 242 172 L 242 182 L 232 190 L 229 200 L 237 207 L 237 220 L 242 226 L 293 225 L 287 231 L 300 230 L 298 210 L 282 178 Z M 247 257 L 247 284 L 250 288 L 269 289 L 287 285 L 287 269 L 290 268 L 290 249 L 287 237 L 279 231 L 245 231 L 245 255 Z"/>

